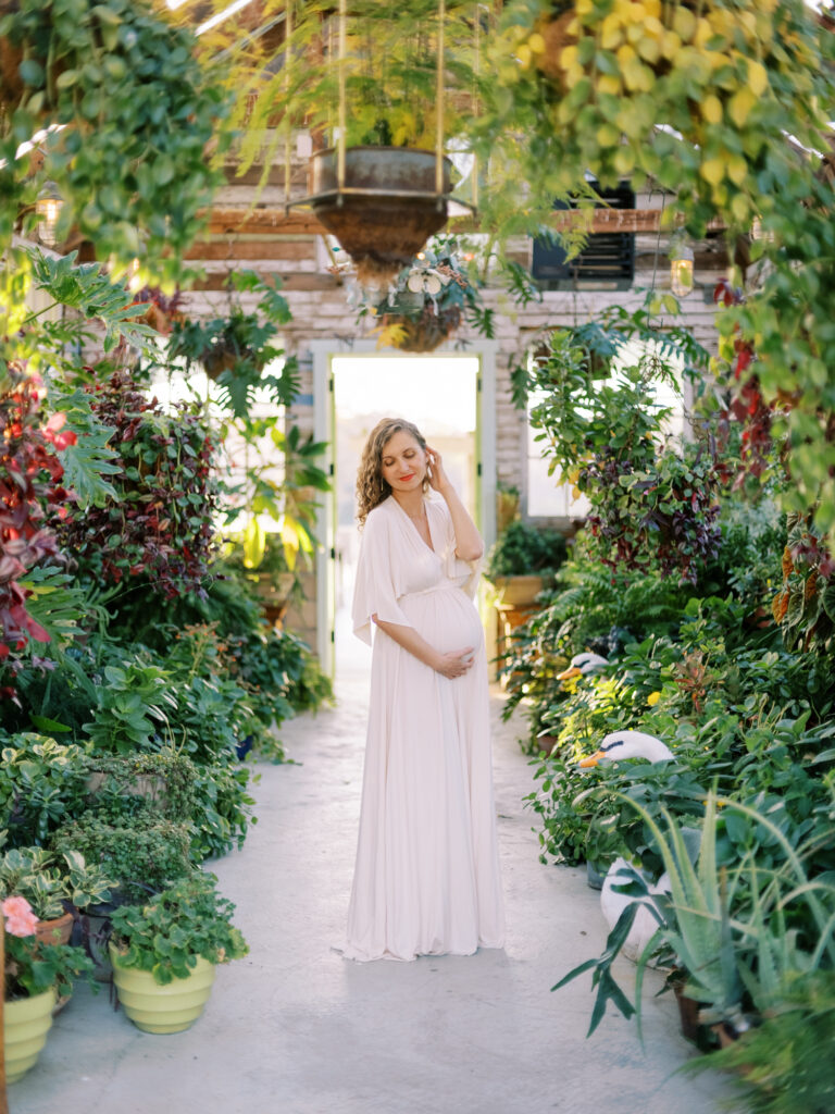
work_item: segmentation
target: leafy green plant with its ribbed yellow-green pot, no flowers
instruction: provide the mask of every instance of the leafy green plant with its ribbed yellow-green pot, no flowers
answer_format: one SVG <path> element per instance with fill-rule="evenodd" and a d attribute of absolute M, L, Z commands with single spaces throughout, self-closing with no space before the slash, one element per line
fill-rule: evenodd
<path fill-rule="evenodd" d="M 112 915 L 110 958 L 119 1001 L 146 1033 L 180 1033 L 203 1013 L 217 964 L 249 950 L 235 906 L 197 872 L 141 907 Z"/>

